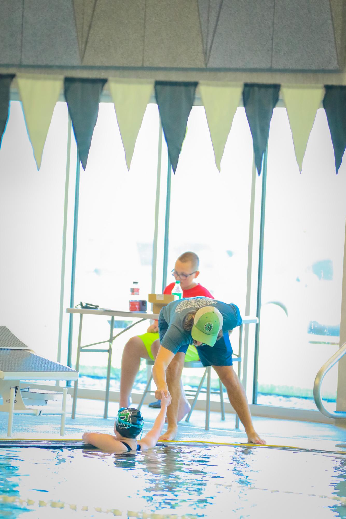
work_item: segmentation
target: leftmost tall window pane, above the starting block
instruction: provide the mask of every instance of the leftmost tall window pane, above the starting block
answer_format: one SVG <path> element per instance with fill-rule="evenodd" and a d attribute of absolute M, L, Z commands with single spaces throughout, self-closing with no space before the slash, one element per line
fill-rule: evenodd
<path fill-rule="evenodd" d="M 67 105 L 58 102 L 37 171 L 22 106 L 10 102 L 0 149 L 0 324 L 56 360 L 67 151 Z"/>

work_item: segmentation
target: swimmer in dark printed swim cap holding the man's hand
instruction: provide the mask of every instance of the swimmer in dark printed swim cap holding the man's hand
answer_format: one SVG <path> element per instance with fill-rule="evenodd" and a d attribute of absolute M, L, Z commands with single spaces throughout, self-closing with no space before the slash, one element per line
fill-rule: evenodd
<path fill-rule="evenodd" d="M 108 453 L 123 450 L 147 450 L 155 447 L 166 419 L 167 406 L 171 403 L 170 395 L 161 392 L 161 409 L 153 428 L 139 441 L 136 437 L 142 432 L 144 420 L 142 413 L 134 407 L 121 407 L 114 424 L 115 435 L 100 432 L 85 432 L 84 443 L 89 443 Z"/>

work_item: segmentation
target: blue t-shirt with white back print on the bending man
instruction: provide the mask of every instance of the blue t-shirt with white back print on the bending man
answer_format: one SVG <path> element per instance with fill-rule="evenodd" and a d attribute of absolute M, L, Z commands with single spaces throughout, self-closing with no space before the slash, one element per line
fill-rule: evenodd
<path fill-rule="evenodd" d="M 172 301 L 172 303 L 164 306 L 160 312 L 159 327 L 160 318 L 163 318 L 168 325 L 164 335 L 160 333 L 161 346 L 175 354 L 182 346 L 192 344 L 191 331 L 188 332 L 183 328 L 184 319 L 191 311 L 197 311 L 204 306 L 215 306 L 221 313 L 224 319 L 222 326 L 224 333 L 233 330 L 233 328 L 240 326 L 242 323 L 240 311 L 236 305 L 228 305 L 210 297 L 178 299 L 178 301 Z"/>

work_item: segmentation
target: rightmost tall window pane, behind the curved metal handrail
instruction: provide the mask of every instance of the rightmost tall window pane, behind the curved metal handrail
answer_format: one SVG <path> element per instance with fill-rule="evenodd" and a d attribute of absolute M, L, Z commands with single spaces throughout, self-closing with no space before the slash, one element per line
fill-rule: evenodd
<path fill-rule="evenodd" d="M 338 349 L 345 233 L 345 165 L 335 174 L 324 110 L 302 173 L 285 108 L 271 121 L 257 403 L 315 408 L 314 378 Z M 337 366 L 324 398 L 335 409 Z"/>

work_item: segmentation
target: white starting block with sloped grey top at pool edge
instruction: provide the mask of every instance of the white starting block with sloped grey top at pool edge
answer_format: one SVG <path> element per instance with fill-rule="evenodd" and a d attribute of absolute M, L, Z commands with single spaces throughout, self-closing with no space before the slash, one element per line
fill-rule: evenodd
<path fill-rule="evenodd" d="M 22 380 L 76 380 L 78 372 L 59 362 L 36 355 L 6 326 L 0 326 L 0 412 L 8 413 L 7 436 L 12 434 L 13 415 L 61 415 L 60 435 L 65 432 L 67 388 L 62 392 L 22 387 Z M 27 407 L 26 404 L 44 406 L 48 401 L 61 400 L 62 408 L 52 411 Z"/>

